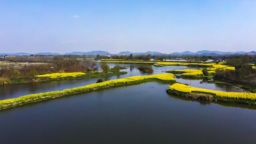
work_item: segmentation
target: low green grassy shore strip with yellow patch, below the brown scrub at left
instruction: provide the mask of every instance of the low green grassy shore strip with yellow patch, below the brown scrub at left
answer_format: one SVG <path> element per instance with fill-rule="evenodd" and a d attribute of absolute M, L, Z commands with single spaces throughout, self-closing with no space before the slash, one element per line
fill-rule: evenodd
<path fill-rule="evenodd" d="M 126 69 L 124 67 L 120 67 L 120 69 Z M 98 78 L 105 76 L 114 76 L 119 74 L 127 74 L 127 72 L 118 72 L 116 68 L 111 68 L 110 72 L 69 72 L 69 73 L 52 73 L 52 74 L 43 74 L 37 75 L 34 78 L 15 78 L 9 80 L 8 83 L 5 84 L 17 84 L 17 83 L 25 83 L 25 82 L 42 82 L 48 80 L 66 80 L 66 79 L 76 79 L 76 78 Z M 1 80 L 0 80 L 1 81 Z M 0 82 L 0 85 L 2 83 Z"/>

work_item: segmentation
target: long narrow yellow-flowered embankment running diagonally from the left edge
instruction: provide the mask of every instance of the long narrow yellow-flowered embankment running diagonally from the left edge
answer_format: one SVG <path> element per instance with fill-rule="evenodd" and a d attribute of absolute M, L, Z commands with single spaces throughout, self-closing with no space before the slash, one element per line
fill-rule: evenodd
<path fill-rule="evenodd" d="M 0 109 L 10 108 L 13 106 L 19 106 L 22 104 L 28 104 L 31 102 L 38 102 L 41 100 L 47 100 L 51 98 L 56 98 L 60 96 L 67 96 L 70 94 L 77 94 L 81 92 L 88 92 L 92 90 L 98 90 L 103 88 L 108 88 L 112 86 L 120 86 L 120 85 L 128 85 L 128 84 L 135 84 L 140 82 L 148 82 L 148 81 L 157 81 L 157 82 L 165 82 L 173 84 L 176 82 L 174 79 L 174 75 L 172 74 L 156 74 L 150 76 L 132 76 L 123 79 L 117 80 L 109 80 L 106 82 L 100 82 L 96 84 L 90 84 L 87 86 L 82 86 L 78 88 L 71 88 L 62 91 L 55 91 L 55 92 L 45 92 L 40 94 L 30 94 L 27 96 L 21 96 L 19 98 L 13 98 L 8 100 L 0 100 Z"/>

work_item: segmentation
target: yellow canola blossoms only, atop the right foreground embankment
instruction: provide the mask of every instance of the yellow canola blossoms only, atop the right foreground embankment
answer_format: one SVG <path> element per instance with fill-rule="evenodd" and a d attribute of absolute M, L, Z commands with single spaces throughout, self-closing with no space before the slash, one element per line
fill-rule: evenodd
<path fill-rule="evenodd" d="M 251 99 L 256 100 L 255 93 L 245 93 L 245 92 L 220 92 L 214 90 L 207 90 L 202 88 L 193 88 L 191 86 L 186 86 L 185 84 L 173 84 L 168 89 L 176 90 L 182 93 L 191 93 L 191 92 L 201 92 L 201 93 L 208 93 L 208 94 L 215 94 L 218 97 L 222 98 L 243 98 L 243 99 Z"/>

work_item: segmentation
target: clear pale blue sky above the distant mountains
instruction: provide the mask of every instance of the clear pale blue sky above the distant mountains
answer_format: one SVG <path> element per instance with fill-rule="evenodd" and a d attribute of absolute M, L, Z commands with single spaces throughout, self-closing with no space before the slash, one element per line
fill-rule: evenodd
<path fill-rule="evenodd" d="M 0 53 L 92 50 L 256 50 L 256 1 L 0 1 Z"/>

